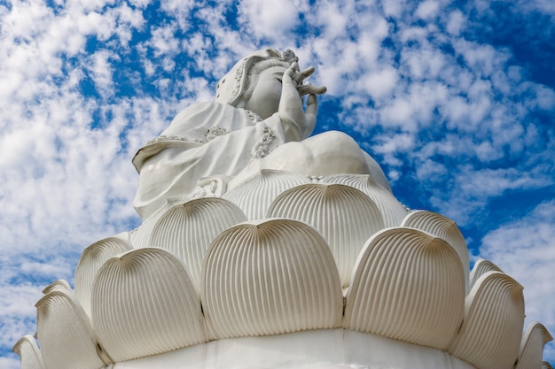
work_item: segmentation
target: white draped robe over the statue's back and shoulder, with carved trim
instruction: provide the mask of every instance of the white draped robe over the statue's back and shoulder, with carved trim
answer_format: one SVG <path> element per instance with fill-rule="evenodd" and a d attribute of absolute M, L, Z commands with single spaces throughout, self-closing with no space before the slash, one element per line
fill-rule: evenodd
<path fill-rule="evenodd" d="M 190 106 L 133 158 L 139 173 L 135 209 L 146 219 L 168 199 L 190 196 L 200 179 L 236 175 L 252 159 L 301 140 L 284 126 L 277 114 L 261 120 L 227 104 Z"/>

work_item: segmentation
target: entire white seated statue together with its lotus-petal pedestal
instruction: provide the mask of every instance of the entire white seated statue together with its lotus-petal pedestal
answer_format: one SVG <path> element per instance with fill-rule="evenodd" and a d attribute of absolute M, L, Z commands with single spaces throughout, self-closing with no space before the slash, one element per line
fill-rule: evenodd
<path fill-rule="evenodd" d="M 138 150 L 141 226 L 44 289 L 22 368 L 551 368 L 517 281 L 348 135 L 309 137 L 325 88 L 297 62 L 243 58 Z"/>

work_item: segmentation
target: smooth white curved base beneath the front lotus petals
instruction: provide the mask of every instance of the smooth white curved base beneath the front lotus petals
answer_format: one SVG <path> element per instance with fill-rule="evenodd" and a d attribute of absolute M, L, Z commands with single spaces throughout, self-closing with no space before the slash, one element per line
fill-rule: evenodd
<path fill-rule="evenodd" d="M 442 350 L 326 329 L 204 343 L 113 369 L 474 369 Z"/>

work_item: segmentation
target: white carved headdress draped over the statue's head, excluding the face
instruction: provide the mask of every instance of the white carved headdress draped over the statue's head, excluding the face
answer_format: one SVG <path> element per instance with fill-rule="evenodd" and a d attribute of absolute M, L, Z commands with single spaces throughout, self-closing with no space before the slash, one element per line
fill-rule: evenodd
<path fill-rule="evenodd" d="M 262 60 L 275 59 L 289 65 L 299 61 L 292 50 L 283 53 L 274 49 L 258 50 L 238 61 L 231 71 L 223 76 L 216 87 L 215 102 L 235 106 L 247 88 L 246 75 L 251 67 Z"/>

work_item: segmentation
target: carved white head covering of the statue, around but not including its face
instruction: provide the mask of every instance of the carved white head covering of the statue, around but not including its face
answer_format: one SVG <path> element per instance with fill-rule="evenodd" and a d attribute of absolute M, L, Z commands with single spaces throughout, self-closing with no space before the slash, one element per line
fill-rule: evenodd
<path fill-rule="evenodd" d="M 242 107 L 241 104 L 252 95 L 264 70 L 275 66 L 286 69 L 298 60 L 292 50 L 283 53 L 273 49 L 255 51 L 233 65 L 231 71 L 218 82 L 215 102 Z"/>

